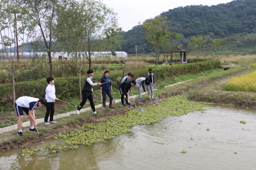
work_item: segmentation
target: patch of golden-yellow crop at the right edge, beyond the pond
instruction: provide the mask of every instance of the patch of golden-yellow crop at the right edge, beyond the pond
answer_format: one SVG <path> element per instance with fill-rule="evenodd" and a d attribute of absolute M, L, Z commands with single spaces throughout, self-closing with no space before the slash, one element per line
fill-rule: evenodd
<path fill-rule="evenodd" d="M 241 77 L 235 77 L 225 85 L 226 91 L 256 92 L 256 71 Z"/>

